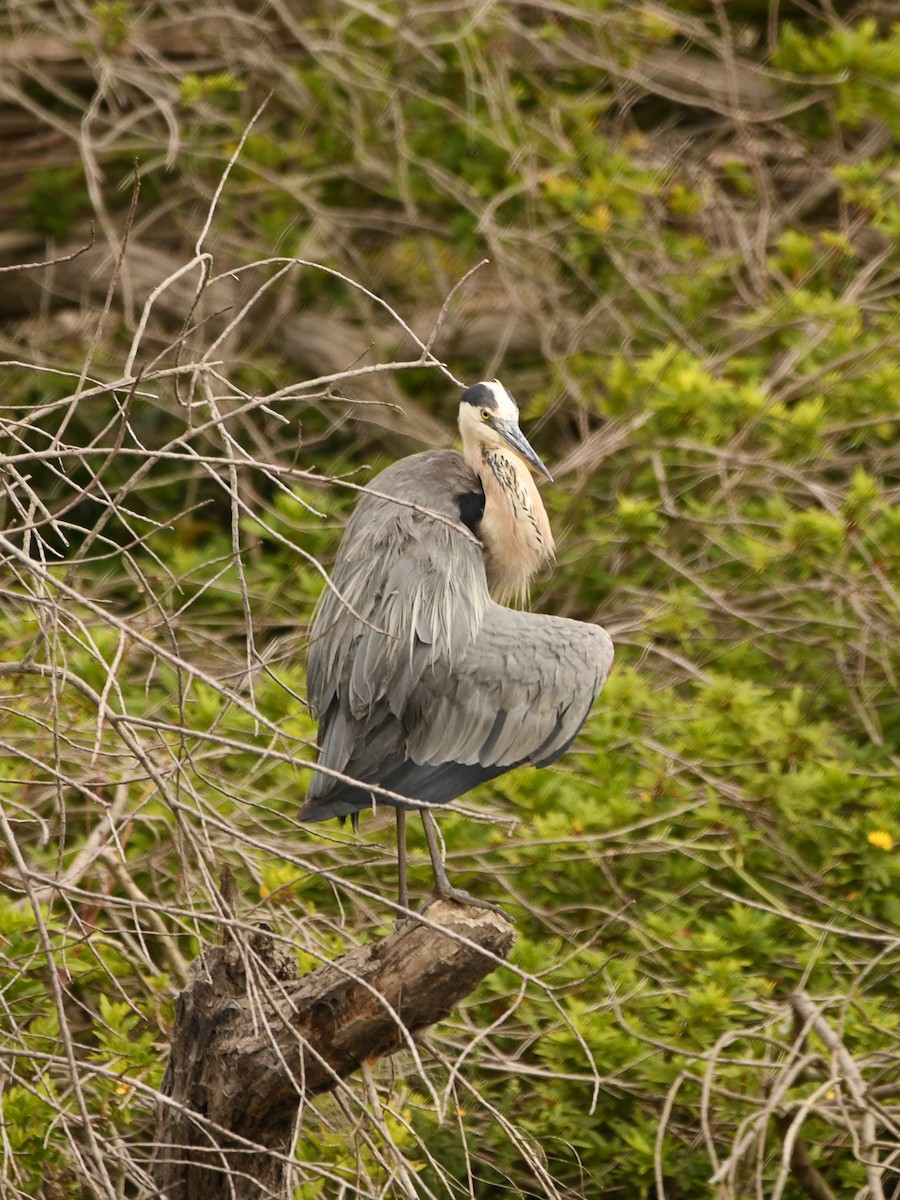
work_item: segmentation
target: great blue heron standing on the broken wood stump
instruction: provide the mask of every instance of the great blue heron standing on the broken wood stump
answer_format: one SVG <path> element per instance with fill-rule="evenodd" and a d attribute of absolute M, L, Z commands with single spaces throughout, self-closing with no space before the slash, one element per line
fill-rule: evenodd
<path fill-rule="evenodd" d="M 436 894 L 470 902 L 450 886 L 422 805 L 554 762 L 613 656 L 599 625 L 502 602 L 552 559 L 553 538 L 529 468 L 548 472 L 500 383 L 463 391 L 460 431 L 463 454 L 415 454 L 372 480 L 311 632 L 318 764 L 338 774 L 316 772 L 300 820 L 355 822 L 362 809 L 394 805 L 404 908 L 406 810 L 421 812 Z"/>

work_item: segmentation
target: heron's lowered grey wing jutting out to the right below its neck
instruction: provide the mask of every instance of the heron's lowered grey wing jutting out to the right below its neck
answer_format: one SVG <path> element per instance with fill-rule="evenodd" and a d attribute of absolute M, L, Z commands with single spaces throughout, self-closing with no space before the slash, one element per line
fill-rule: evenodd
<path fill-rule="evenodd" d="M 612 658 L 598 625 L 492 605 L 463 659 L 452 670 L 430 662 L 400 714 L 380 703 L 359 721 L 332 708 L 319 761 L 360 784 L 312 787 L 301 820 L 367 808 L 378 796 L 366 782 L 410 806 L 444 804 L 512 767 L 554 762 L 584 724 Z"/>

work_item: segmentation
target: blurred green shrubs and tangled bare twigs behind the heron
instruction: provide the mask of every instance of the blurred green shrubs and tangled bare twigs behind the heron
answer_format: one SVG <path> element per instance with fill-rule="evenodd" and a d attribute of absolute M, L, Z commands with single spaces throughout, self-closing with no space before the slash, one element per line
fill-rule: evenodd
<path fill-rule="evenodd" d="M 305 1106 L 295 1195 L 900 1196 L 898 18 L 4 6 L 5 1196 L 151 1194 L 224 864 L 304 966 L 390 928 L 390 817 L 295 812 L 320 566 L 454 438 L 416 338 L 517 396 L 533 605 L 617 667 L 443 821 L 516 971 Z"/>

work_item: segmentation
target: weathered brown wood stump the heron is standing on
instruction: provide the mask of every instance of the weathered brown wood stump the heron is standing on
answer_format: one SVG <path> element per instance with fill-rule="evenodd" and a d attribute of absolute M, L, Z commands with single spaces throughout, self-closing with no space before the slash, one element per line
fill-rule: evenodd
<path fill-rule="evenodd" d="M 300 979 L 265 931 L 198 959 L 162 1085 L 154 1175 L 166 1200 L 283 1196 L 302 1100 L 409 1045 L 515 940 L 490 910 L 437 901 L 425 916 L 440 928 L 407 920 Z"/>

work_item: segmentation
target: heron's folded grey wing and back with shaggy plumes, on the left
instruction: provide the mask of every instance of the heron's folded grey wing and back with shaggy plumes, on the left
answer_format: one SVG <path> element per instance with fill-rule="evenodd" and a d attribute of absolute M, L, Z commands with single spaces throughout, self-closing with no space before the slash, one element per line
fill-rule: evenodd
<path fill-rule="evenodd" d="M 361 498 L 311 632 L 319 764 L 371 778 L 400 752 L 398 722 L 422 676 L 437 664 L 452 671 L 478 637 L 490 605 L 484 557 L 460 521 L 460 499 L 475 485 L 461 455 L 431 451 L 373 484 L 406 503 Z M 317 773 L 310 797 L 344 790 Z"/>

